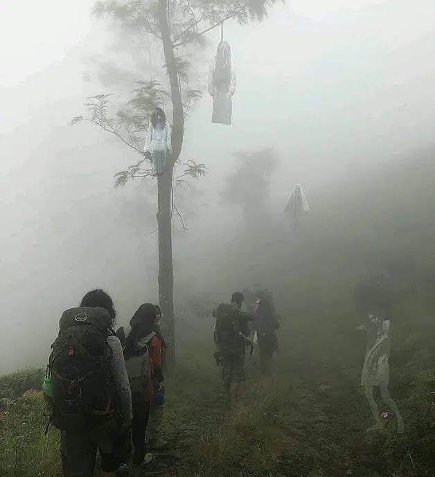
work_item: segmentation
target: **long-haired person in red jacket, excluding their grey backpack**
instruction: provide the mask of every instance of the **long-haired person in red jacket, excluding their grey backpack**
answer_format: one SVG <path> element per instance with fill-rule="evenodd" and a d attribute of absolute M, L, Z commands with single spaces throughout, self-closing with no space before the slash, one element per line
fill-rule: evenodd
<path fill-rule="evenodd" d="M 132 446 L 133 465 L 145 465 L 152 460 L 152 454 L 146 452 L 146 435 L 150 420 L 150 406 L 154 394 L 153 381 L 164 381 L 162 370 L 162 343 L 156 331 L 157 308 L 144 303 L 130 320 L 130 328 L 120 328 L 116 332 L 123 343 L 126 361 L 137 354 L 138 350 L 148 348 L 148 385 L 141 395 L 132 397 Z M 128 366 L 127 366 L 128 368 Z"/>

